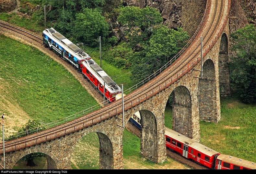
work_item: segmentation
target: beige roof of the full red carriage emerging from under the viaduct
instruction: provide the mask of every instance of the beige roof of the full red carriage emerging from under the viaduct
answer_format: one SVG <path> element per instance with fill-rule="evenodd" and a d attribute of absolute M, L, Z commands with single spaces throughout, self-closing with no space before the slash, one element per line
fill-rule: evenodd
<path fill-rule="evenodd" d="M 170 128 L 165 127 L 165 134 L 173 138 L 174 140 L 180 141 L 181 143 L 186 144 L 187 146 L 204 153 L 207 156 L 219 154 L 219 152 L 212 150 L 204 146 L 203 144 L 197 142 L 196 140 L 190 139 L 185 135 L 182 135 L 179 132 L 176 132 L 175 130 L 172 130 Z"/>

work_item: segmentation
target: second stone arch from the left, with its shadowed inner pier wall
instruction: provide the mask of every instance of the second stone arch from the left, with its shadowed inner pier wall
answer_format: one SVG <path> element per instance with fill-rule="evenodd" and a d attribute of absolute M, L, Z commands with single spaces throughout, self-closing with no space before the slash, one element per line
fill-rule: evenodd
<path fill-rule="evenodd" d="M 72 151 L 76 147 L 76 144 L 87 134 L 97 133 L 99 138 L 99 169 L 114 169 L 114 158 L 113 158 L 113 145 L 112 135 L 103 129 L 93 128 L 86 130 L 79 136 L 74 145 L 72 146 Z"/>

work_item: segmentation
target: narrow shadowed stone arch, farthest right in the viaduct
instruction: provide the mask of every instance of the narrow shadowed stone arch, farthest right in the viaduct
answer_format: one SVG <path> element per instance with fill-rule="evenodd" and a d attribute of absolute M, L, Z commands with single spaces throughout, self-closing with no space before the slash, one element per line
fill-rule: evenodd
<path fill-rule="evenodd" d="M 220 95 L 223 97 L 230 95 L 230 82 L 229 82 L 229 60 L 228 60 L 228 40 L 227 34 L 223 33 L 220 41 L 219 50 L 219 88 Z"/>

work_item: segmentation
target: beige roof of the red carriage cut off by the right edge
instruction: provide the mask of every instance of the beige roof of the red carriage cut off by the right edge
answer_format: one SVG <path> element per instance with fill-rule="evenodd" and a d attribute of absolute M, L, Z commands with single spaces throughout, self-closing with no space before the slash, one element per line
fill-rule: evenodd
<path fill-rule="evenodd" d="M 225 154 L 220 154 L 217 157 L 218 160 L 222 160 L 222 161 L 226 161 L 228 163 L 232 163 L 235 164 L 237 166 L 243 166 L 249 169 L 256 169 L 255 163 L 245 160 L 245 159 L 241 159 L 241 158 L 237 158 L 237 157 L 233 157 L 230 155 L 225 155 Z"/>

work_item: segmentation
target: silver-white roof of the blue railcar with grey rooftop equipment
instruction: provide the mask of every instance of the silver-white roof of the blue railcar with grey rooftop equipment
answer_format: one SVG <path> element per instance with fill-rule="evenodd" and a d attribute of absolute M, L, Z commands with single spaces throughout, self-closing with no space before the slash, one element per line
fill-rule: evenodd
<path fill-rule="evenodd" d="M 47 32 L 47 33 L 46 33 Z M 57 32 L 54 28 L 48 28 L 43 31 L 44 34 L 46 34 L 51 39 L 55 39 L 54 42 L 59 44 L 61 47 L 66 47 L 66 51 L 75 56 L 77 59 L 90 59 L 91 57 L 85 53 L 81 48 L 79 48 L 76 44 L 72 43 L 70 40 L 68 40 L 65 36 Z"/>

